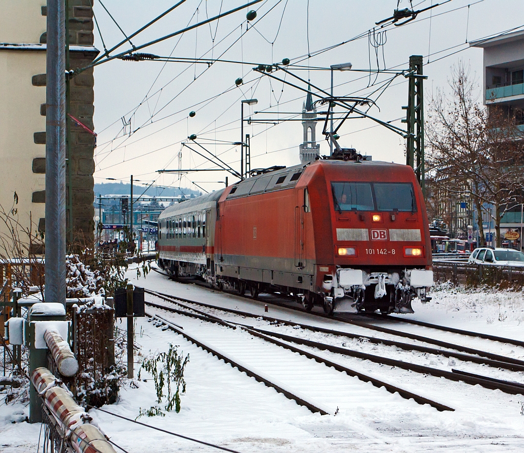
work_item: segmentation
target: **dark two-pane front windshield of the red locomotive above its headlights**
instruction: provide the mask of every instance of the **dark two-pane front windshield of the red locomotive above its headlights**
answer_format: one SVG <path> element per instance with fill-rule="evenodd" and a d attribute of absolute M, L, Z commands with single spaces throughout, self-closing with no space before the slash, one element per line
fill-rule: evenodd
<path fill-rule="evenodd" d="M 410 182 L 332 182 L 331 189 L 339 211 L 417 211 Z"/>

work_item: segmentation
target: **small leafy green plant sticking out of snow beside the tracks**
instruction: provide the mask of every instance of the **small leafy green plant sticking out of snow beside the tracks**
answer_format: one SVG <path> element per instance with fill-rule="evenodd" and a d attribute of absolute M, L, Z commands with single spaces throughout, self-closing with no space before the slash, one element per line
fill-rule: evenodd
<path fill-rule="evenodd" d="M 140 380 L 141 371 L 144 369 L 151 374 L 155 381 L 157 403 L 162 402 L 167 386 L 167 412 L 180 412 L 180 395 L 185 393 L 184 368 L 189 362 L 189 354 L 183 357 L 183 352 L 178 353 L 178 347 L 169 343 L 168 352 L 161 352 L 152 359 L 145 359 L 138 372 Z M 175 390 L 176 389 L 176 390 Z M 155 414 L 158 415 L 158 414 Z M 150 415 L 151 416 L 151 415 Z"/>

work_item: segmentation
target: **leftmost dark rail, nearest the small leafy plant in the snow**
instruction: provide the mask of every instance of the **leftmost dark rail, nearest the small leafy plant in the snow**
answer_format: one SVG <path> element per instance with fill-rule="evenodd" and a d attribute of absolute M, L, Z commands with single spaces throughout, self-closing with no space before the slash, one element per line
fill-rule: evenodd
<path fill-rule="evenodd" d="M 319 412 L 321 415 L 328 415 L 328 412 L 324 411 L 324 409 L 321 409 L 321 408 L 315 406 L 314 404 L 312 404 L 312 403 L 304 400 L 303 398 L 293 394 L 289 390 L 284 389 L 280 385 L 278 385 L 278 384 L 276 384 L 274 382 L 271 382 L 268 378 L 265 378 L 264 376 L 260 375 L 259 373 L 255 372 L 253 370 L 248 369 L 245 365 L 242 365 L 241 363 L 233 360 L 232 358 L 227 357 L 222 352 L 219 352 L 219 351 L 211 348 L 208 344 L 205 344 L 202 341 L 193 338 L 187 332 L 184 332 L 182 329 L 179 329 L 178 327 L 176 327 L 176 325 L 174 325 L 173 323 L 169 322 L 169 320 L 163 319 L 159 315 L 150 314 L 147 311 L 146 311 L 146 315 L 149 316 L 150 318 L 156 318 L 156 319 L 159 319 L 160 321 L 166 323 L 166 325 L 168 326 L 169 330 L 172 330 L 172 331 L 178 333 L 179 335 L 182 335 L 186 340 L 188 340 L 191 343 L 195 344 L 199 348 L 202 348 L 204 351 L 209 352 L 209 353 L 215 355 L 219 360 L 223 360 L 225 363 L 229 363 L 233 368 L 237 368 L 238 371 L 246 373 L 250 378 L 255 378 L 258 382 L 262 382 L 265 385 L 267 385 L 268 387 L 274 388 L 277 392 L 282 393 L 284 396 L 289 398 L 289 400 L 296 401 L 298 404 L 307 407 L 313 413 Z"/>

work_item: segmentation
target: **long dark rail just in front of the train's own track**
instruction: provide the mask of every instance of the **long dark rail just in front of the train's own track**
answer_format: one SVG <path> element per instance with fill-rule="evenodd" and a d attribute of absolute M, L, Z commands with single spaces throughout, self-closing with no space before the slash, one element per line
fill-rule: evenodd
<path fill-rule="evenodd" d="M 482 357 L 483 354 L 484 355 L 485 354 L 489 354 L 486 351 L 471 349 L 470 353 L 462 354 L 460 352 L 454 352 L 454 351 L 450 351 L 450 350 L 442 350 L 442 349 L 430 348 L 430 347 L 421 346 L 421 345 L 418 345 L 418 344 L 408 344 L 408 343 L 403 343 L 403 342 L 395 341 L 395 340 L 386 340 L 386 339 L 370 337 L 370 336 L 366 336 L 366 335 L 359 335 L 357 333 L 350 333 L 350 332 L 344 332 L 344 331 L 340 331 L 340 330 L 326 329 L 326 328 L 323 328 L 323 327 L 310 326 L 310 325 L 299 323 L 299 322 L 290 322 L 290 321 L 286 321 L 286 320 L 283 320 L 283 319 L 269 317 L 269 316 L 265 316 L 265 315 L 256 315 L 256 314 L 252 314 L 252 313 L 241 311 L 241 310 L 235 310 L 235 309 L 232 309 L 232 308 L 219 307 L 219 306 L 215 306 L 215 305 L 211 305 L 211 304 L 205 304 L 205 303 L 202 303 L 202 302 L 196 302 L 194 300 L 178 298 L 176 296 L 165 295 L 165 294 L 162 294 L 162 293 L 156 293 L 156 292 L 152 292 L 152 291 L 147 290 L 147 289 L 145 289 L 145 292 L 148 293 L 148 294 L 154 295 L 156 297 L 160 297 L 160 298 L 162 298 L 164 300 L 167 300 L 170 303 L 178 304 L 178 305 L 180 305 L 180 306 L 182 306 L 184 308 L 191 309 L 191 310 L 195 310 L 195 309 L 192 308 L 192 307 L 189 307 L 189 306 L 184 306 L 183 304 L 179 304 L 179 303 L 177 303 L 177 302 L 175 302 L 173 300 L 170 300 L 170 299 L 183 300 L 184 302 L 187 302 L 187 303 L 201 305 L 201 306 L 205 306 L 205 307 L 213 308 L 213 309 L 217 309 L 217 310 L 222 310 L 222 311 L 230 312 L 230 313 L 233 313 L 233 314 L 236 314 L 236 315 L 240 315 L 240 316 L 246 316 L 246 317 L 251 317 L 251 318 L 260 318 L 261 317 L 265 321 L 278 322 L 278 323 L 282 323 L 282 324 L 285 324 L 285 325 L 291 326 L 291 327 L 292 326 L 300 326 L 302 329 L 311 330 L 313 332 L 328 333 L 330 335 L 342 336 L 342 337 L 353 338 L 353 339 L 366 338 L 367 340 L 369 340 L 370 342 L 373 342 L 373 343 L 386 344 L 386 346 L 395 346 L 395 347 L 401 348 L 403 350 L 411 350 L 411 351 L 415 350 L 415 351 L 425 352 L 425 353 L 430 353 L 430 354 L 443 355 L 444 357 L 447 357 L 447 358 L 452 358 L 453 357 L 453 358 L 456 358 L 456 359 L 459 359 L 459 360 L 463 360 L 463 361 L 470 361 L 470 362 L 479 363 L 479 364 L 486 364 L 486 365 L 492 366 L 494 368 L 504 368 L 504 369 L 511 370 L 511 371 L 524 371 L 524 362 L 521 362 L 521 363 L 510 362 L 509 360 L 515 360 L 515 359 L 507 358 L 508 360 L 505 360 L 506 357 L 504 357 L 504 356 L 498 356 L 500 358 L 496 359 L 496 360 L 492 359 L 492 358 Z M 149 303 L 149 302 L 146 302 L 146 304 L 150 304 L 150 305 L 156 306 L 157 308 L 166 308 L 168 310 L 170 309 L 169 307 L 164 307 L 164 306 L 153 304 L 153 303 Z M 204 316 L 212 316 L 212 315 L 206 314 L 203 311 L 199 311 L 199 312 L 200 312 L 200 314 L 202 314 Z M 424 337 L 420 337 L 420 338 L 424 338 Z M 431 342 L 431 339 L 424 339 L 424 340 L 421 340 L 421 341 Z M 458 346 L 456 346 L 456 345 L 454 345 L 452 343 L 447 343 L 447 344 L 449 344 L 450 346 L 454 346 L 455 348 L 458 347 Z M 455 349 L 455 348 L 452 347 L 450 349 Z M 474 355 L 472 355 L 472 354 L 474 354 Z"/>

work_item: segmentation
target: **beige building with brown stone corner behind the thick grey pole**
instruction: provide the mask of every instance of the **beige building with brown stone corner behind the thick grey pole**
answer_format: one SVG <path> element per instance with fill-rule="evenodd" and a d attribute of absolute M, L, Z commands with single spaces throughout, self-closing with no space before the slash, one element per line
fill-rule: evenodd
<path fill-rule="evenodd" d="M 46 4 L 0 0 L 0 204 L 6 212 L 15 207 L 12 215 L 20 229 L 41 233 L 46 201 Z M 70 69 L 88 66 L 99 53 L 93 47 L 90 4 L 69 0 Z M 93 69 L 86 70 L 71 79 L 69 96 L 69 114 L 91 131 L 93 85 Z M 68 129 L 66 230 L 71 243 L 93 238 L 95 135 L 71 119 Z M 9 234 L 2 223 L 0 234 Z M 43 244 L 34 245 L 33 252 L 42 254 Z"/>

